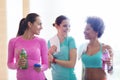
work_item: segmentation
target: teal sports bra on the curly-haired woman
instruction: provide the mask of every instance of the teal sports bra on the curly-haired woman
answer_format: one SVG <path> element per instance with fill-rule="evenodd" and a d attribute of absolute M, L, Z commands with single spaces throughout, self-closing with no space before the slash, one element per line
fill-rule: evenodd
<path fill-rule="evenodd" d="M 97 53 L 93 55 L 83 53 L 81 58 L 85 68 L 102 68 L 102 44 L 100 44 L 100 50 Z"/>

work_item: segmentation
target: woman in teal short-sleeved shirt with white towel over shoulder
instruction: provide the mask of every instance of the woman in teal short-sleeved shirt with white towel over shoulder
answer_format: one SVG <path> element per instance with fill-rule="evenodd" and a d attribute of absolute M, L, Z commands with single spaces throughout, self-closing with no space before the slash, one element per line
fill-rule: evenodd
<path fill-rule="evenodd" d="M 69 20 L 61 15 L 56 18 L 53 26 L 58 33 L 48 41 L 52 80 L 76 80 L 74 73 L 76 45 L 74 39 L 67 36 L 70 28 Z"/>

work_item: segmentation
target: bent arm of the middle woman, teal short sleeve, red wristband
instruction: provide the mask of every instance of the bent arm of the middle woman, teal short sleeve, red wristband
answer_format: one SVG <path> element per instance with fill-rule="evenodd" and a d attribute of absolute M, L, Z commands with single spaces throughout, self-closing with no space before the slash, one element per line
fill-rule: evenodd
<path fill-rule="evenodd" d="M 56 64 L 59 64 L 61 66 L 67 67 L 67 68 L 73 68 L 75 66 L 76 63 L 76 58 L 77 58 L 77 51 L 76 51 L 76 45 L 75 45 L 75 41 L 72 37 L 70 37 L 68 39 L 68 47 L 70 49 L 70 53 L 69 53 L 69 60 L 59 60 L 59 59 L 54 59 L 52 56 L 52 53 L 50 53 L 51 55 L 51 62 L 54 62 Z M 51 47 L 51 52 L 55 51 L 56 48 L 52 48 Z M 62 51 L 61 51 L 62 52 Z"/>

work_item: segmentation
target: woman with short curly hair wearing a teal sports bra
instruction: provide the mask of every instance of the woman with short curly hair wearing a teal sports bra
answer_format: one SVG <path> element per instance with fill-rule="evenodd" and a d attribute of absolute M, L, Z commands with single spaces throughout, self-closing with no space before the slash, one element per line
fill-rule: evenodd
<path fill-rule="evenodd" d="M 111 47 L 101 44 L 98 40 L 104 32 L 104 22 L 99 17 L 88 17 L 86 22 L 84 35 L 89 43 L 81 55 L 84 66 L 82 80 L 107 80 L 106 73 L 102 68 L 103 51 L 107 49 L 110 53 L 110 58 L 105 61 L 110 66 L 109 73 L 112 72 L 113 55 Z"/>

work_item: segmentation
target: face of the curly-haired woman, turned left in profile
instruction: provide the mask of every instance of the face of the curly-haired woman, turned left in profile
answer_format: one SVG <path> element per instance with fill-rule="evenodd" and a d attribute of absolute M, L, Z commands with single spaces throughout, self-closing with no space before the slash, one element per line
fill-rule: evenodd
<path fill-rule="evenodd" d="M 98 33 L 93 30 L 90 24 L 87 24 L 84 30 L 85 39 L 91 40 L 98 36 Z"/>

